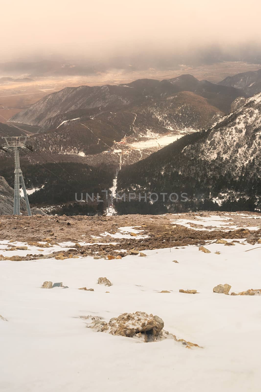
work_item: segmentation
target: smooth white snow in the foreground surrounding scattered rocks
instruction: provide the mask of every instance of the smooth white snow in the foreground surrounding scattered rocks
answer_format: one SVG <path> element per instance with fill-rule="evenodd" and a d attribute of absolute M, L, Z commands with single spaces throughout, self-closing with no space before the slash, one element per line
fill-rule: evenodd
<path fill-rule="evenodd" d="M 229 283 L 230 292 L 260 288 L 261 249 L 205 247 L 210 254 L 189 246 L 122 260 L 0 261 L 0 314 L 8 320 L 0 320 L 1 391 L 259 390 L 261 297 L 212 289 L 219 283 Z M 100 276 L 113 285 L 97 285 Z M 41 289 L 46 280 L 69 288 Z M 203 348 L 139 343 L 85 328 L 79 318 L 108 321 L 137 310 L 158 315 L 164 329 Z"/>

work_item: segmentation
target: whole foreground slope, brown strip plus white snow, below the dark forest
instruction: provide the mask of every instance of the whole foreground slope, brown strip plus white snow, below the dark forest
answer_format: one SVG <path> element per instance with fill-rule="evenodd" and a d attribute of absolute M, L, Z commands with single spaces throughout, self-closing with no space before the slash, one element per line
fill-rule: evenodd
<path fill-rule="evenodd" d="M 261 214 L 1 216 L 0 222 L 1 391 L 259 390 L 261 296 L 217 294 L 213 287 L 261 288 Z M 93 247 L 98 254 L 103 244 L 137 254 L 107 260 L 102 252 L 100 259 L 80 253 Z M 22 246 L 28 249 L 15 248 Z M 79 251 L 77 258 L 58 260 L 69 248 Z M 34 256 L 7 260 L 26 254 Z M 112 286 L 98 284 L 99 277 Z M 68 288 L 42 289 L 43 281 Z M 165 330 L 200 347 L 96 332 L 80 317 L 108 322 L 136 311 L 159 316 Z"/>

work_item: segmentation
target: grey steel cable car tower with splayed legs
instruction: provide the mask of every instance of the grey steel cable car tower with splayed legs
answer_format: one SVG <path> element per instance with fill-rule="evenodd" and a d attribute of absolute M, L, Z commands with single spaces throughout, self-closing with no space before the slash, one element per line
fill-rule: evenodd
<path fill-rule="evenodd" d="M 5 151 L 9 151 L 9 150 L 14 151 L 14 215 L 20 215 L 20 183 L 21 183 L 28 216 L 31 216 L 32 215 L 31 208 L 29 205 L 29 200 L 25 188 L 25 182 L 23 180 L 23 173 L 20 168 L 20 159 L 19 159 L 19 149 L 26 148 L 25 142 L 27 136 L 13 136 L 13 137 L 2 136 L 2 139 L 5 139 L 5 143 L 2 144 L 2 149 Z"/>

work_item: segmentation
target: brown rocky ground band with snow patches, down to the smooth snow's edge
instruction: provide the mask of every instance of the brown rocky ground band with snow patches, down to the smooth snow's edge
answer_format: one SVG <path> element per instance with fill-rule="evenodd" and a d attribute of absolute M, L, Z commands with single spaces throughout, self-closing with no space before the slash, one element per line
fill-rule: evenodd
<path fill-rule="evenodd" d="M 215 216 L 217 220 L 215 221 Z M 198 220 L 209 219 L 212 223 L 203 226 Z M 220 220 L 220 218 L 223 221 Z M 188 220 L 190 227 L 180 223 Z M 193 223 L 195 220 L 195 223 Z M 191 222 L 192 221 L 192 222 Z M 214 222 L 214 223 L 213 223 Z M 216 227 L 215 222 L 223 224 Z M 127 227 L 133 227 L 138 233 L 130 233 Z M 124 229 L 124 227 L 126 229 Z M 235 229 L 236 227 L 236 229 Z M 248 229 L 248 227 L 250 229 Z M 122 229 L 121 229 L 122 228 Z M 230 229 L 231 228 L 231 229 Z M 252 229 L 251 229 L 252 228 Z M 122 233 L 130 234 L 121 238 Z M 116 236 L 115 236 L 116 234 Z M 137 238 L 136 238 L 137 237 Z M 145 237 L 145 238 L 144 238 Z M 261 214 L 199 212 L 166 215 L 119 215 L 119 216 L 1 216 L 0 239 L 10 243 L 20 241 L 28 245 L 51 247 L 54 244 L 71 241 L 68 250 L 54 252 L 48 256 L 28 254 L 23 260 L 43 257 L 58 259 L 82 257 L 95 254 L 95 257 L 124 257 L 127 254 L 139 254 L 145 249 L 182 247 L 186 245 L 205 245 L 206 241 L 221 238 L 246 238 L 248 243 L 260 243 Z M 46 244 L 41 244 L 45 242 Z M 79 245 L 78 243 L 93 244 Z M 240 241 L 238 241 L 240 242 Z M 100 244 L 99 244 L 100 243 Z M 229 245 L 223 240 L 225 245 Z M 121 249 L 127 252 L 120 251 Z M 10 249 L 11 250 L 11 249 Z M 143 256 L 143 254 L 141 255 Z M 15 256 L 16 257 L 16 256 Z"/>

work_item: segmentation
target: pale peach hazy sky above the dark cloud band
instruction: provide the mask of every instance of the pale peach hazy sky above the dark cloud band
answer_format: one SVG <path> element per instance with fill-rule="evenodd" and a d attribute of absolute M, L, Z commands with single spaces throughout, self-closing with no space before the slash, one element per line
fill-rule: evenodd
<path fill-rule="evenodd" d="M 1 4 L 1 58 L 40 53 L 186 51 L 261 42 L 259 0 L 9 0 Z"/>

